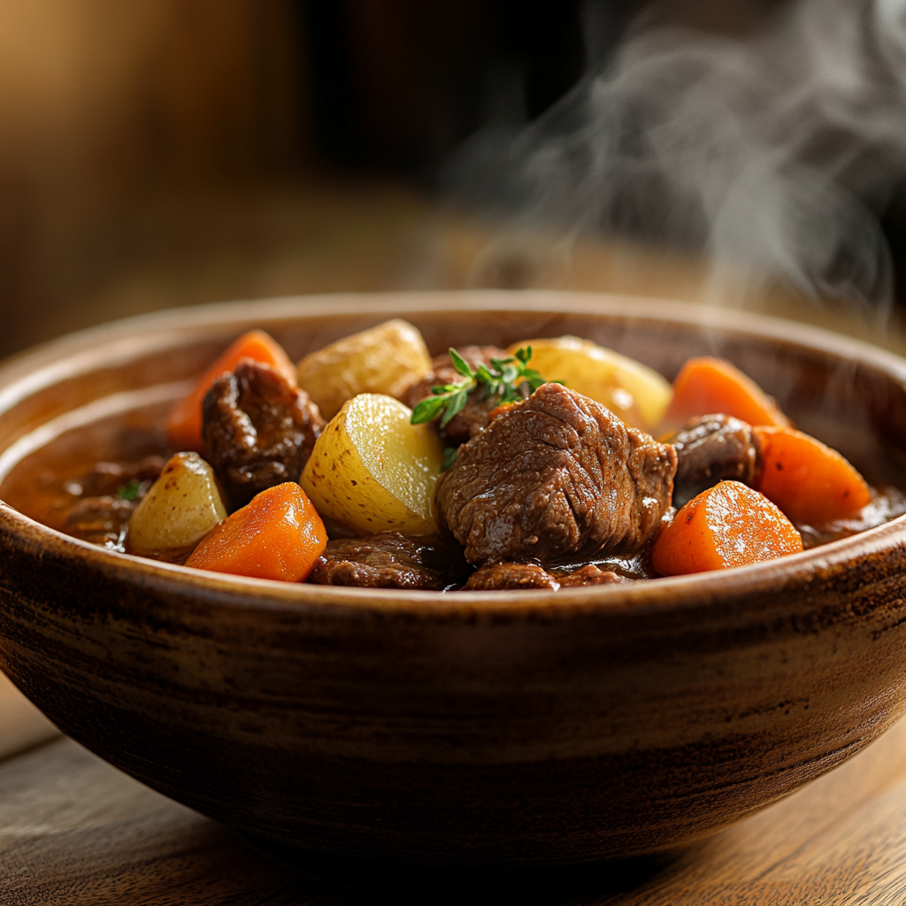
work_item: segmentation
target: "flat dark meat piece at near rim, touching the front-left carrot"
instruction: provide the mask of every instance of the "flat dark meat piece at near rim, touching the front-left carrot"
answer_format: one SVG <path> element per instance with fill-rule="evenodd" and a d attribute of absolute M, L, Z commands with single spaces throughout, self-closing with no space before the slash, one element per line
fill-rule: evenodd
<path fill-rule="evenodd" d="M 467 570 L 462 554 L 437 538 L 381 532 L 370 538 L 329 541 L 308 581 L 316 585 L 442 591 L 461 583 Z"/>

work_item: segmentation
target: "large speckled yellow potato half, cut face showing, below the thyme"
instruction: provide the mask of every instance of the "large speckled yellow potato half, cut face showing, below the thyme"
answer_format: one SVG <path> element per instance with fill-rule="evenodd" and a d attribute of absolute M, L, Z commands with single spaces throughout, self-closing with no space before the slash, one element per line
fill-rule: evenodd
<path fill-rule="evenodd" d="M 410 425 L 400 400 L 362 393 L 314 445 L 300 483 L 318 513 L 356 535 L 437 531 L 434 488 L 443 449 L 428 425 Z"/>

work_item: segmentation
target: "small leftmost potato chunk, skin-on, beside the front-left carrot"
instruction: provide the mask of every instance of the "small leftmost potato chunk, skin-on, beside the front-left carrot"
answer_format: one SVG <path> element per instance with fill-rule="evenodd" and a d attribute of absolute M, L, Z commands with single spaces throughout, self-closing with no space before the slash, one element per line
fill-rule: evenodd
<path fill-rule="evenodd" d="M 214 471 L 198 453 L 177 453 L 129 520 L 126 550 L 174 559 L 226 519 Z"/>

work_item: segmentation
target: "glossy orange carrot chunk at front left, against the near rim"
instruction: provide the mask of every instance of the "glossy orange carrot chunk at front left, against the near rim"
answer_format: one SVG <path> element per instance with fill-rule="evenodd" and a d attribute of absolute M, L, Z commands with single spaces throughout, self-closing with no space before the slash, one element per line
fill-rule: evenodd
<path fill-rule="evenodd" d="M 327 546 L 327 531 L 294 481 L 268 487 L 216 525 L 187 566 L 255 579 L 302 582 Z"/>

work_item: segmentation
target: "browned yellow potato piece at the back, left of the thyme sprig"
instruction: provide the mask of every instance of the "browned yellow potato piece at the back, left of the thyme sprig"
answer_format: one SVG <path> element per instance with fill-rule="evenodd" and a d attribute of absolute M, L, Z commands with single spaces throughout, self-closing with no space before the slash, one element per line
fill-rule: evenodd
<path fill-rule="evenodd" d="M 299 386 L 333 419 L 360 393 L 399 397 L 431 368 L 418 329 L 399 318 L 331 343 L 299 362 Z"/>

